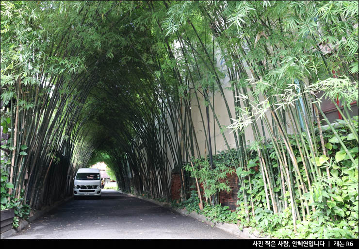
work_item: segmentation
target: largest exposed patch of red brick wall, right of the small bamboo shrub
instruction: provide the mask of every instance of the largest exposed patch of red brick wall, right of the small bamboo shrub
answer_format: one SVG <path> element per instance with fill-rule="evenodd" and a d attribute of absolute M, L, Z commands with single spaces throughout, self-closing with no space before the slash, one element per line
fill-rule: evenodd
<path fill-rule="evenodd" d="M 238 176 L 236 173 L 227 174 L 227 181 L 229 187 L 232 189 L 231 192 L 227 193 L 226 191 L 220 191 L 219 192 L 219 202 L 222 204 L 222 206 L 229 206 L 230 210 L 236 210 L 237 208 L 237 193 L 239 190 L 238 186 Z"/>

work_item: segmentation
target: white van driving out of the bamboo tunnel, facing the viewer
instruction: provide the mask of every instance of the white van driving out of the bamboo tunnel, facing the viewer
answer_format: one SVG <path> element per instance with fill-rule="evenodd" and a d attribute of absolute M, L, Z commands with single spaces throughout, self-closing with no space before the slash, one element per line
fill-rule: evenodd
<path fill-rule="evenodd" d="M 79 168 L 74 178 L 74 199 L 80 196 L 101 197 L 101 175 L 97 168 Z"/>

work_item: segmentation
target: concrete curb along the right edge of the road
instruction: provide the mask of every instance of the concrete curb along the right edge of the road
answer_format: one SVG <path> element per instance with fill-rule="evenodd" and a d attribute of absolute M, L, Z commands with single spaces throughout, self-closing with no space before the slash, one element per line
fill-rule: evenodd
<path fill-rule="evenodd" d="M 192 218 L 195 218 L 195 219 L 197 219 L 199 221 L 202 221 L 202 222 L 206 223 L 207 225 L 219 228 L 219 229 L 221 229 L 221 230 L 223 230 L 225 232 L 228 232 L 228 233 L 233 234 L 235 236 L 241 237 L 243 239 L 269 239 L 269 237 L 262 237 L 260 235 L 260 233 L 257 232 L 257 231 L 252 231 L 253 230 L 252 228 L 244 228 L 241 231 L 241 230 L 239 230 L 238 226 L 235 225 L 235 224 L 212 222 L 212 221 L 207 220 L 206 216 L 204 216 L 204 215 L 199 215 L 199 214 L 197 214 L 195 212 L 188 213 L 188 211 L 185 208 L 184 209 L 172 208 L 171 205 L 166 203 L 166 202 L 161 202 L 161 201 L 158 201 L 158 200 L 149 199 L 149 198 L 142 197 L 142 196 L 136 196 L 136 195 L 129 194 L 129 193 L 123 193 L 121 191 L 118 191 L 118 192 L 121 193 L 121 194 L 124 194 L 124 195 L 128 195 L 128 196 L 131 196 L 131 197 L 138 198 L 138 199 L 144 199 L 144 200 L 147 200 L 149 202 L 155 203 L 155 204 L 157 204 L 159 206 L 162 206 L 162 207 L 171 209 L 173 211 L 176 211 L 179 214 L 182 214 L 182 215 L 185 215 L 185 216 L 190 216 Z"/>

